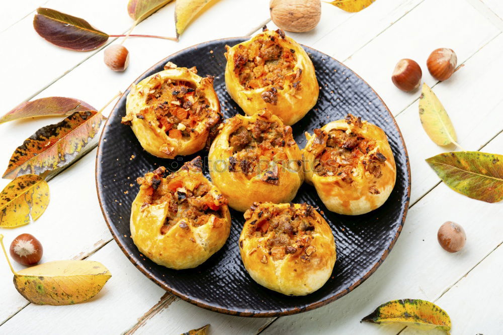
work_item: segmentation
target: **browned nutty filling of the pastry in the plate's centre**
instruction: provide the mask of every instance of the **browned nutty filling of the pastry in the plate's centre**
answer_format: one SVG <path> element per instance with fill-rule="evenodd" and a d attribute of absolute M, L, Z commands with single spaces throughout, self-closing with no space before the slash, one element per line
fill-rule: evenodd
<path fill-rule="evenodd" d="M 263 173 L 263 180 L 270 184 L 279 183 L 278 165 L 288 162 L 285 147 L 295 145 L 290 126 L 281 127 L 276 122 L 258 119 L 241 125 L 229 136 L 229 171 L 241 172 L 248 179 Z"/>

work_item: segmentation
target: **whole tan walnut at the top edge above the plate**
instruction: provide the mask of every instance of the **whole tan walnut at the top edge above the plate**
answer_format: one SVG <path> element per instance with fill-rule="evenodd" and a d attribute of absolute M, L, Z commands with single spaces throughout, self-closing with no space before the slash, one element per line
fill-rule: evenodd
<path fill-rule="evenodd" d="M 271 0 L 271 20 L 279 28 L 303 33 L 316 27 L 321 17 L 320 0 Z"/>

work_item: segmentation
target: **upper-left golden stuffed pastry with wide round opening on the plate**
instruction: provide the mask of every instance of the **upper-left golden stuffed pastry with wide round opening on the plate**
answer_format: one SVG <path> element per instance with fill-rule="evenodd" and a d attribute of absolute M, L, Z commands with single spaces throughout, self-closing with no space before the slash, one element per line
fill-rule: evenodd
<path fill-rule="evenodd" d="M 122 123 L 131 126 L 147 152 L 174 158 L 203 149 L 221 118 L 213 78 L 170 62 L 131 85 Z"/>

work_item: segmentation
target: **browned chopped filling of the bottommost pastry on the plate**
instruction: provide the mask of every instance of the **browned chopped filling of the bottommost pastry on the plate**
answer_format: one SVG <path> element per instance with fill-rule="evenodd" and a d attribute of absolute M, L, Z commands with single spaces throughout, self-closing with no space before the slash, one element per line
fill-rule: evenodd
<path fill-rule="evenodd" d="M 315 208 L 308 204 L 302 204 L 300 208 L 295 208 L 290 204 L 287 208 L 260 207 L 254 203 L 245 213 L 247 220 L 254 211 L 260 210 L 259 219 L 251 222 L 252 230 L 247 231 L 247 236 L 257 238 L 267 238 L 266 249 L 273 261 L 282 260 L 285 255 L 296 254 L 301 262 L 310 262 L 310 256 L 316 252 L 316 248 L 311 246 L 314 239 L 313 234 L 317 227 L 308 218 L 316 220 Z M 242 245 L 242 241 L 241 241 Z"/>

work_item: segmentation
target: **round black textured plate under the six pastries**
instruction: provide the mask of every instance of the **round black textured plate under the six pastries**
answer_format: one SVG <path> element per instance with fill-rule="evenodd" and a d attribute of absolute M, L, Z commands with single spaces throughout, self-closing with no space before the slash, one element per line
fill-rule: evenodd
<path fill-rule="evenodd" d="M 244 40 L 217 40 L 182 50 L 154 65 L 135 83 L 161 71 L 167 61 L 178 66 L 197 66 L 199 75 L 215 76 L 214 87 L 222 113 L 226 118 L 232 117 L 241 110 L 225 90 L 224 46 Z M 98 196 L 107 224 L 120 248 L 141 272 L 184 300 L 214 311 L 242 316 L 276 316 L 310 310 L 340 298 L 367 279 L 386 258 L 402 229 L 410 193 L 410 168 L 393 117 L 376 92 L 353 71 L 325 54 L 305 49 L 313 61 L 321 90 L 313 110 L 292 127 L 299 147 L 305 146 L 305 131 L 312 133 L 314 128 L 352 113 L 386 132 L 397 168 L 396 185 L 388 200 L 364 215 L 332 213 L 324 207 L 314 187 L 304 184 L 300 188 L 294 202 L 319 206 L 332 228 L 337 245 L 337 262 L 332 277 L 322 288 L 307 296 L 285 296 L 260 286 L 249 277 L 241 263 L 237 244 L 244 218 L 242 213 L 232 209 L 232 228 L 227 243 L 196 269 L 167 269 L 140 255 L 129 231 L 131 203 L 139 189 L 136 178 L 160 165 L 175 171 L 197 155 L 165 160 L 143 151 L 131 128 L 120 123 L 126 114 L 129 90 L 122 95 L 107 120 L 96 160 Z M 198 154 L 205 158 L 205 174 L 209 178 L 207 152 Z"/>

